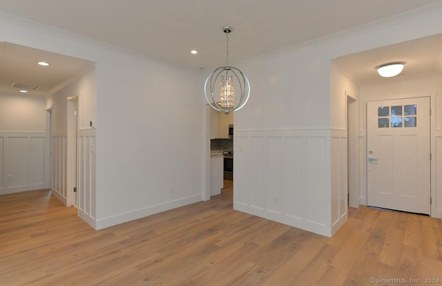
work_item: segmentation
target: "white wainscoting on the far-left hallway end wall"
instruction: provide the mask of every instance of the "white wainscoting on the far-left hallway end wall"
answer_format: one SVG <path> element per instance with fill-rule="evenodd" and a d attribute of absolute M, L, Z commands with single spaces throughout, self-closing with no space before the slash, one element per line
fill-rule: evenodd
<path fill-rule="evenodd" d="M 44 189 L 44 133 L 0 133 L 0 194 Z"/>

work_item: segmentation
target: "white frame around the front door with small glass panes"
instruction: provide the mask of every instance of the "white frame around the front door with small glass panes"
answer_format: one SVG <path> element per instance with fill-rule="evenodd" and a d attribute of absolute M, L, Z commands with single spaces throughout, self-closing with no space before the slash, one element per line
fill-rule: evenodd
<path fill-rule="evenodd" d="M 383 97 L 383 98 L 373 98 L 372 100 L 369 100 L 365 102 L 365 146 L 364 146 L 364 154 L 362 158 L 365 159 L 365 165 L 367 165 L 368 161 L 368 150 L 367 150 L 367 140 L 368 140 L 368 112 L 367 112 L 367 106 L 368 102 L 377 102 L 380 100 L 390 100 L 390 99 L 409 99 L 409 98 L 419 98 L 419 97 L 430 97 L 430 152 L 432 154 L 432 159 L 430 160 L 430 198 L 432 198 L 432 203 L 430 205 L 430 216 L 433 218 L 440 218 L 442 216 L 442 213 L 439 214 L 436 211 L 436 97 L 437 93 L 434 93 L 432 95 L 397 95 L 392 97 Z M 368 168 L 365 168 L 364 172 L 365 177 L 365 205 L 367 205 L 367 198 L 368 198 Z"/>

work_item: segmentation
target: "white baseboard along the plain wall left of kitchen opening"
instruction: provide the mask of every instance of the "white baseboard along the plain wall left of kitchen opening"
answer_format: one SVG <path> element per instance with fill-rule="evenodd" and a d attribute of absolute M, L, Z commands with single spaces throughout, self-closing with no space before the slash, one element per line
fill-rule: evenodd
<path fill-rule="evenodd" d="M 146 207 L 144 209 L 137 209 L 128 213 L 121 213 L 116 216 L 110 216 L 108 218 L 101 218 L 95 220 L 95 229 L 105 229 L 106 227 L 112 227 L 113 225 L 119 225 L 131 220 L 137 220 L 138 218 L 144 218 L 151 216 L 155 213 L 161 213 L 162 211 L 169 211 L 169 209 L 176 209 L 177 207 L 184 207 L 187 204 L 193 204 L 194 202 L 200 202 L 202 200 L 201 195 L 191 196 L 189 198 L 182 198 L 180 200 L 174 200 L 172 202 L 165 202 L 164 204 L 157 204 L 155 206 Z M 88 222 L 86 220 L 86 222 Z M 89 223 L 89 222 L 88 222 Z M 89 223 L 89 225 L 91 225 Z M 93 225 L 92 225 L 93 226 Z"/>

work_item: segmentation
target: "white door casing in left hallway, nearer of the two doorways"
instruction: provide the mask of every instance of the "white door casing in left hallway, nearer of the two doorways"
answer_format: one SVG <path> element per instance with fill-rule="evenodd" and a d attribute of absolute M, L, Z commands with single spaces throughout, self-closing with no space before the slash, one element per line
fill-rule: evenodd
<path fill-rule="evenodd" d="M 74 187 L 78 186 L 78 124 L 80 121 L 80 95 L 73 95 L 67 98 L 67 119 L 68 119 L 68 134 L 67 134 L 67 158 L 66 158 L 66 207 L 73 205 L 73 196 L 77 196 L 74 193 Z M 77 116 L 74 115 L 74 111 L 77 108 Z"/>

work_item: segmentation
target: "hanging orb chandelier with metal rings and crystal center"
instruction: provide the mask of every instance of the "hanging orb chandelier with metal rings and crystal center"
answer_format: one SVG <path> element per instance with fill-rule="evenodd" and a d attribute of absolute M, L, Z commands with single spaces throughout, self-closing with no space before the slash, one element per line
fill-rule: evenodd
<path fill-rule="evenodd" d="M 250 96 L 249 79 L 233 66 L 229 66 L 229 32 L 231 27 L 224 27 L 226 33 L 226 65 L 217 68 L 207 77 L 204 84 L 206 101 L 216 111 L 226 114 L 238 111 Z M 234 86 L 236 85 L 236 86 Z"/>

